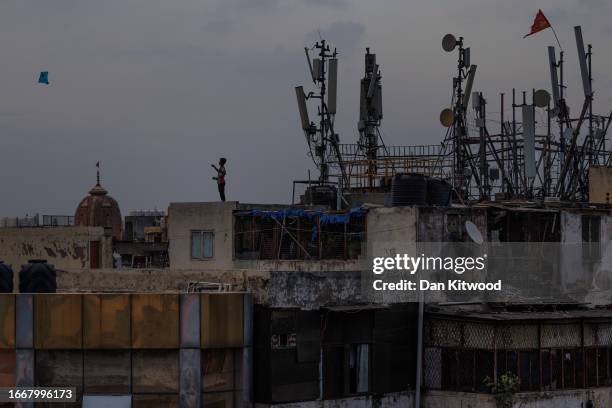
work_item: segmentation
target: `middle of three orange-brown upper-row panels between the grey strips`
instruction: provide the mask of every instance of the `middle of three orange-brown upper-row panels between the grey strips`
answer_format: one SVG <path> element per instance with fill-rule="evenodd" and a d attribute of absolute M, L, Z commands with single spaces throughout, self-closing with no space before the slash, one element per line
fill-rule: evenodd
<path fill-rule="evenodd" d="M 129 295 L 83 296 L 83 346 L 130 347 Z"/>

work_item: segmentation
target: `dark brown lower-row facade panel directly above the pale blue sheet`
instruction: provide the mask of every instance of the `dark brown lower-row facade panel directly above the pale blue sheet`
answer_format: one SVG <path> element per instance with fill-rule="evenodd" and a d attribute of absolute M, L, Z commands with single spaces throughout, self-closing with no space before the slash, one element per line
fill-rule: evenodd
<path fill-rule="evenodd" d="M 86 350 L 85 393 L 129 394 L 132 360 L 129 350 Z"/>

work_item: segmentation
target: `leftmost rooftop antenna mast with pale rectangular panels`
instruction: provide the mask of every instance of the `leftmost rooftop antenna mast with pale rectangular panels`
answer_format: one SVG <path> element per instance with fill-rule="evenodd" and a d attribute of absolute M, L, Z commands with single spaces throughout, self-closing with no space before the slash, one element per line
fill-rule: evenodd
<path fill-rule="evenodd" d="M 334 117 L 336 114 L 338 59 L 337 52 L 331 51 L 325 40 L 317 42 L 312 49 L 304 48 L 306 60 L 317 92 L 305 94 L 304 88 L 295 88 L 302 129 L 310 148 L 310 154 L 319 169 L 319 183 L 330 182 L 330 165 L 337 165 L 341 177 L 339 183 L 346 182 L 346 172 L 338 147 L 339 136 L 334 132 Z M 311 53 L 314 58 L 311 58 Z M 306 102 L 318 99 L 317 124 L 310 122 Z M 332 159 L 332 158 L 335 158 Z"/>

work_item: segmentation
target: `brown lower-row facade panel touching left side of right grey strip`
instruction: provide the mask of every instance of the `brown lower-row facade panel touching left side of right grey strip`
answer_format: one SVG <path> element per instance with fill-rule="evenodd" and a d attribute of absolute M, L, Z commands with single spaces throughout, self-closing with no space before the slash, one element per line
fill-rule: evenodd
<path fill-rule="evenodd" d="M 132 392 L 178 393 L 178 350 L 138 350 L 132 355 Z"/>

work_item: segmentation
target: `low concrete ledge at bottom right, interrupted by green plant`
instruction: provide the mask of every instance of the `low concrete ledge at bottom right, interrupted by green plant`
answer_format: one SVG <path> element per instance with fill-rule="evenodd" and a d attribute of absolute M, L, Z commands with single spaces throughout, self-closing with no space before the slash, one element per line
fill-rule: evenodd
<path fill-rule="evenodd" d="M 610 407 L 612 388 L 518 393 L 513 408 L 580 408 L 585 407 L 589 399 L 595 407 Z M 428 391 L 423 396 L 423 408 L 456 407 L 497 408 L 497 405 L 493 396 L 488 394 Z"/>

